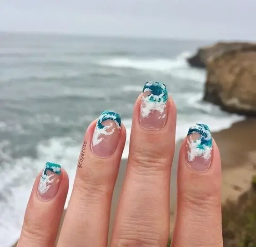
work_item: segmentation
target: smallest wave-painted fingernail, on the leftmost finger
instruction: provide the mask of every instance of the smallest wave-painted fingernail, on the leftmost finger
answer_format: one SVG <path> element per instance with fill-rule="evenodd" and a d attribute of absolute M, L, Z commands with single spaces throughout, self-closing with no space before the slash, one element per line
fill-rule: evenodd
<path fill-rule="evenodd" d="M 55 197 L 60 185 L 60 165 L 47 162 L 41 175 L 37 196 L 42 200 L 50 200 Z"/>

